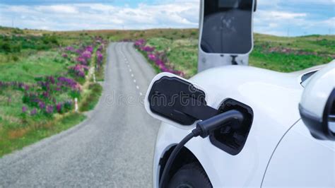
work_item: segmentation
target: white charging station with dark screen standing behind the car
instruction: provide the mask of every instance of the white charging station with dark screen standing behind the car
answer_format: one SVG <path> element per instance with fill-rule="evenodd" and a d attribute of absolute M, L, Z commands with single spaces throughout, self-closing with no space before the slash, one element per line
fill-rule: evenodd
<path fill-rule="evenodd" d="M 248 65 L 256 0 L 201 0 L 198 71 Z"/>

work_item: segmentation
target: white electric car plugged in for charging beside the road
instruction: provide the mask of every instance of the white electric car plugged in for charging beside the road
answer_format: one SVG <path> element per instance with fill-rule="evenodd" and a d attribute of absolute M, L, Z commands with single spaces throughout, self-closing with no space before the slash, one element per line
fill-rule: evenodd
<path fill-rule="evenodd" d="M 335 187 L 335 61 L 318 70 L 283 74 L 223 66 L 190 79 L 205 91 L 207 105 L 239 109 L 237 102 L 241 102 L 252 109 L 253 120 L 246 124 L 249 133 L 223 127 L 206 139 L 189 141 L 173 161 L 167 185 Z M 162 77 L 177 78 L 159 74 L 154 81 Z M 196 124 L 185 126 L 149 112 L 163 120 L 153 165 L 154 187 L 158 187 L 172 150 Z M 307 126 L 323 128 L 318 132 Z M 235 142 L 239 136 L 245 141 Z"/>

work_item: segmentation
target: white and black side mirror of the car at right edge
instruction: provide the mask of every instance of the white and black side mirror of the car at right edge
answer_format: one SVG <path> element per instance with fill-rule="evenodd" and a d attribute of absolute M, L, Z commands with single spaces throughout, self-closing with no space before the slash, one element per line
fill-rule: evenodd
<path fill-rule="evenodd" d="M 299 110 L 312 136 L 335 141 L 335 61 L 310 78 Z"/>

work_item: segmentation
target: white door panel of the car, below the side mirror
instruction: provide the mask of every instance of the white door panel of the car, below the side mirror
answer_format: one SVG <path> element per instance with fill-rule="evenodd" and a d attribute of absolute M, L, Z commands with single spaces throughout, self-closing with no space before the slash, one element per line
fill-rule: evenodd
<path fill-rule="evenodd" d="M 312 137 L 300 120 L 279 143 L 262 187 L 335 187 L 335 143 Z"/>

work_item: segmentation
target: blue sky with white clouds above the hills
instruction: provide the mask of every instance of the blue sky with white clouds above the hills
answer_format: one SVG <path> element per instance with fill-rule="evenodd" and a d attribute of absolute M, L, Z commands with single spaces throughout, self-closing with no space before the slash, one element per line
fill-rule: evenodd
<path fill-rule="evenodd" d="M 0 25 L 42 30 L 198 28 L 199 1 L 0 0 Z M 335 0 L 258 0 L 257 8 L 257 33 L 335 33 Z"/>

